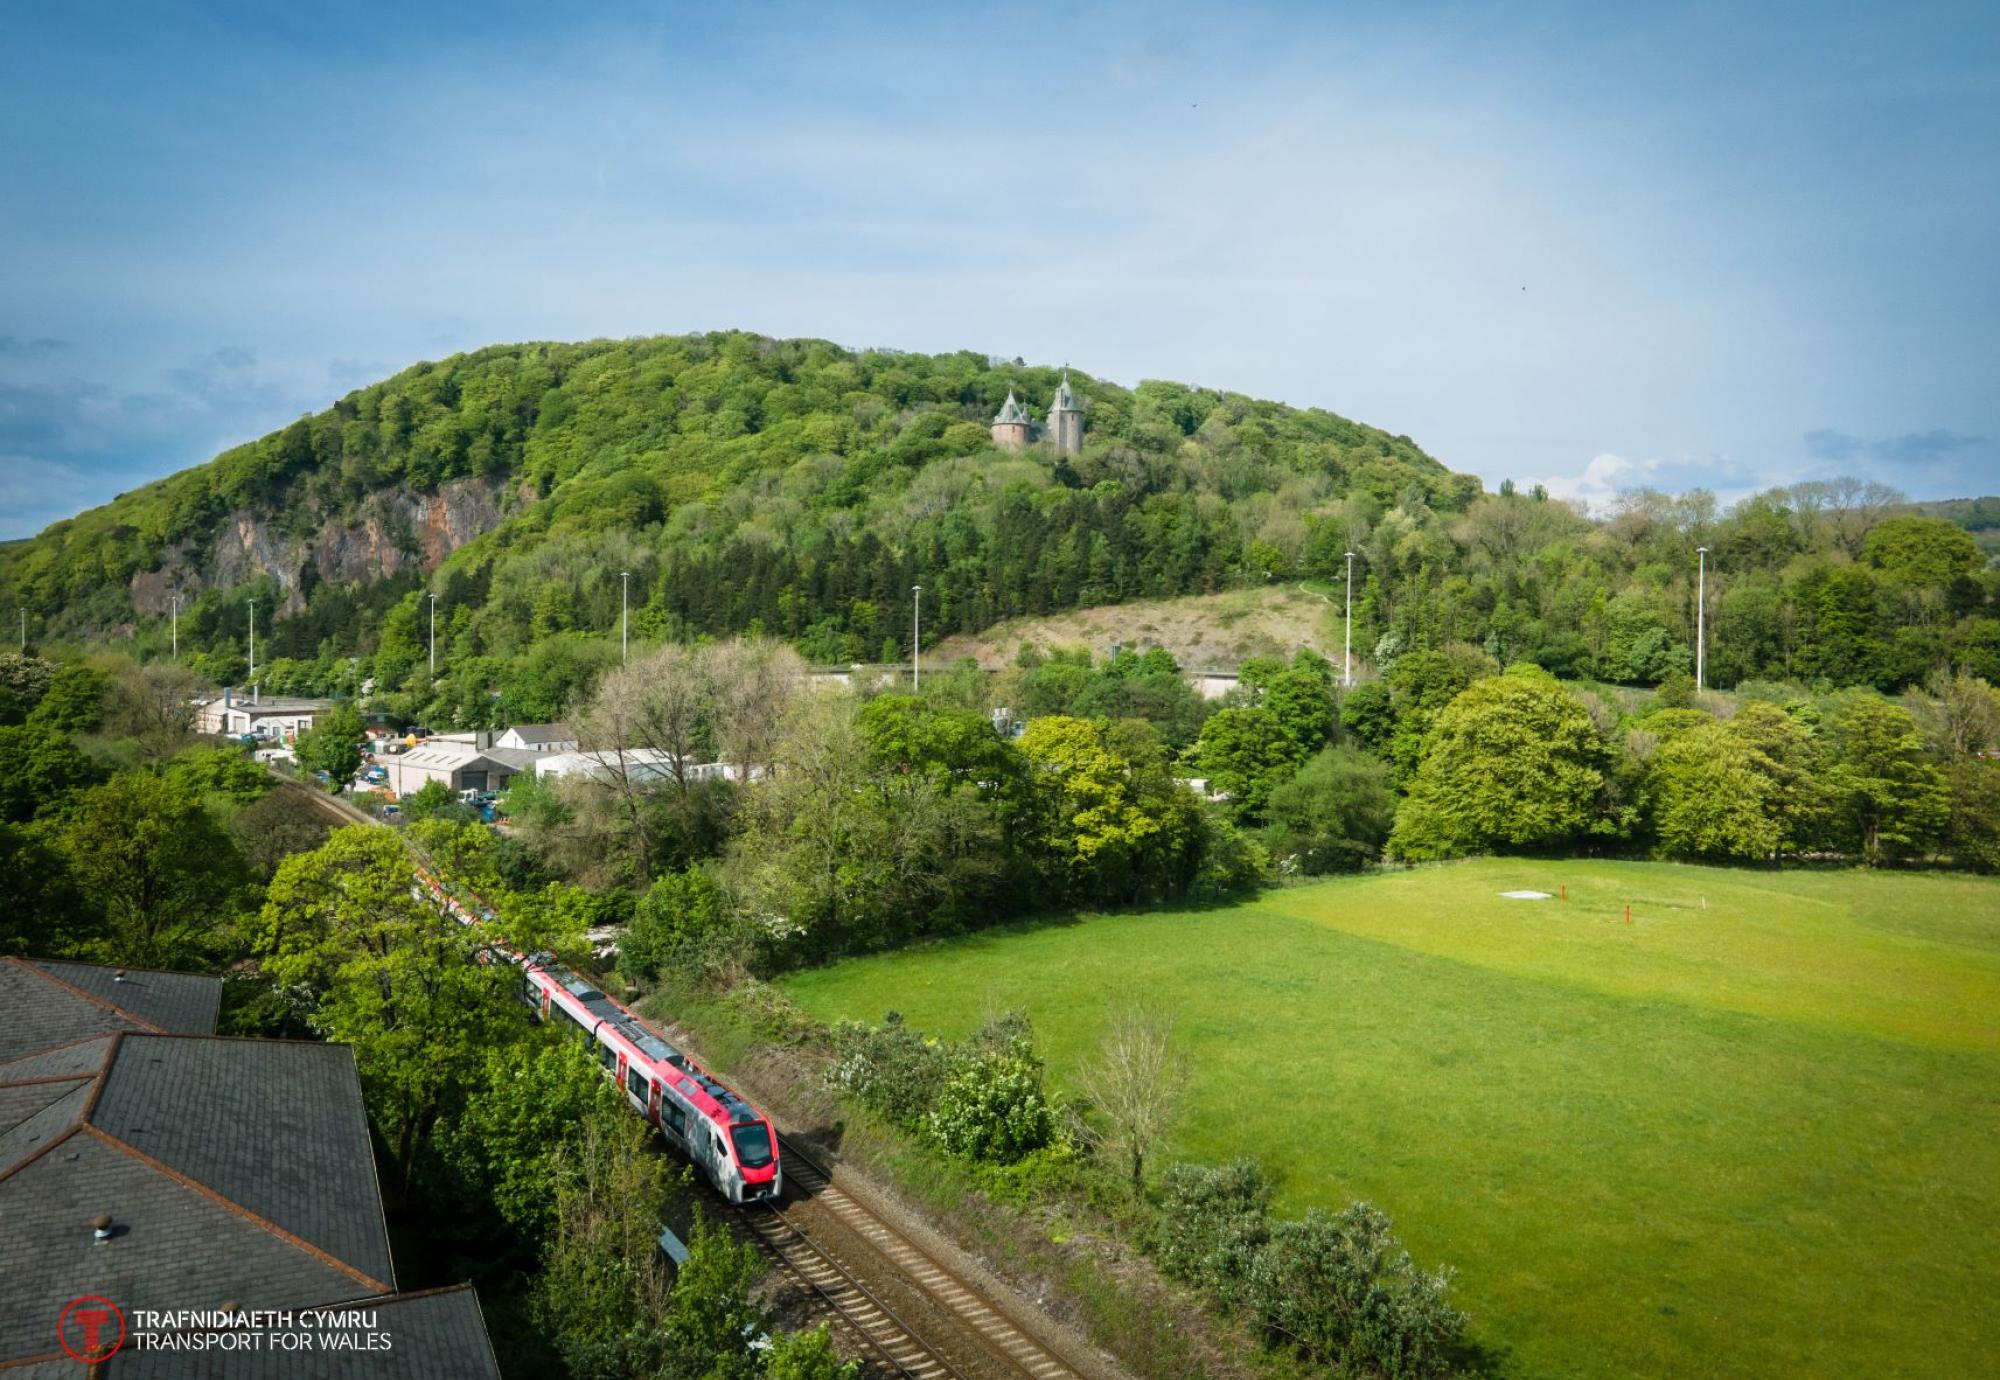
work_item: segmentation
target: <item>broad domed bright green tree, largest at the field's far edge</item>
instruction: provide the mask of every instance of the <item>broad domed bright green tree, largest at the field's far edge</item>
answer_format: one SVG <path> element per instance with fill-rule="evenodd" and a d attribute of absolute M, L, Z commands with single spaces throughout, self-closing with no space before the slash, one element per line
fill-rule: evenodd
<path fill-rule="evenodd" d="M 1582 700 L 1540 668 L 1474 682 L 1436 720 L 1390 852 L 1452 858 L 1560 848 L 1602 828 L 1610 750 Z"/>

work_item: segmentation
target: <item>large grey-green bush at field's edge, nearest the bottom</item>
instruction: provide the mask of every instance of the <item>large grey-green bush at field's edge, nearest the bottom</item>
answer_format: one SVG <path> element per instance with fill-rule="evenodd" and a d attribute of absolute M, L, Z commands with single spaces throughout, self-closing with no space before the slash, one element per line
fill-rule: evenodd
<path fill-rule="evenodd" d="M 1448 1290 L 1450 1274 L 1418 1270 L 1366 1202 L 1278 1222 L 1250 1268 L 1258 1322 L 1342 1376 L 1450 1374 L 1466 1316 Z"/>

